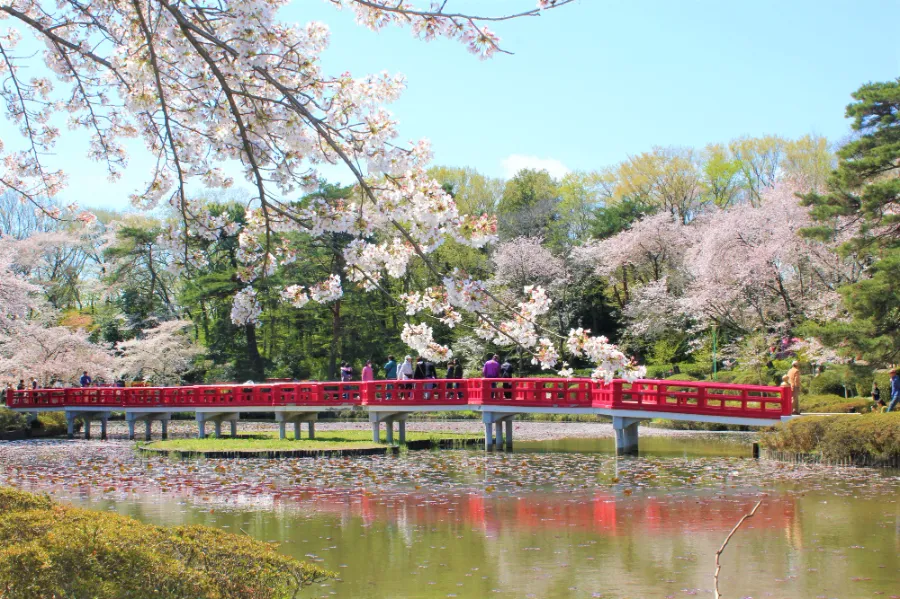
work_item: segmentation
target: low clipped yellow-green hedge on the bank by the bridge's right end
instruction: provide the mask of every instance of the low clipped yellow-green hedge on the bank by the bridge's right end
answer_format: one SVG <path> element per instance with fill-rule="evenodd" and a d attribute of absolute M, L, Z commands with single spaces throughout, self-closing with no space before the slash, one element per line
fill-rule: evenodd
<path fill-rule="evenodd" d="M 828 460 L 890 459 L 900 456 L 900 413 L 796 418 L 760 435 L 760 445 Z"/>

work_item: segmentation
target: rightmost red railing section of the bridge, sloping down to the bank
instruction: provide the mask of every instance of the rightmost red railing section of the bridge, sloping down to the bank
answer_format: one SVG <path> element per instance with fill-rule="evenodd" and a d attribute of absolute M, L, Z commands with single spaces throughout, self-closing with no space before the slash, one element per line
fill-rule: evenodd
<path fill-rule="evenodd" d="M 643 412 L 746 418 L 776 418 L 791 413 L 790 387 L 642 379 L 597 383 L 593 397 L 596 408 Z"/>

